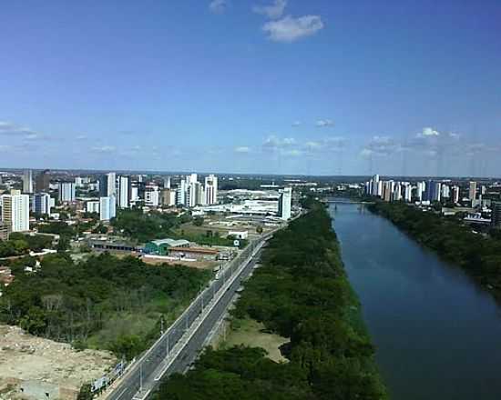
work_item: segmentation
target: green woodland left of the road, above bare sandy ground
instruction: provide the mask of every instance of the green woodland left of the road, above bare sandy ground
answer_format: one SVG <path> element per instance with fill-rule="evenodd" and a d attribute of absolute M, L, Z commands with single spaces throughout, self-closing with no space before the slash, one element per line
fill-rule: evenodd
<path fill-rule="evenodd" d="M 2 323 L 127 358 L 144 350 L 158 336 L 160 319 L 173 321 L 210 279 L 206 271 L 106 253 L 79 264 L 66 254 L 47 255 L 34 272 L 25 263 L 11 265 L 15 280 L 0 297 Z"/>

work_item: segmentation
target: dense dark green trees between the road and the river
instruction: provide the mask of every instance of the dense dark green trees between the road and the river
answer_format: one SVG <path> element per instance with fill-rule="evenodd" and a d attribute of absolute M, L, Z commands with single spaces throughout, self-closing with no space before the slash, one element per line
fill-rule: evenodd
<path fill-rule="evenodd" d="M 209 347 L 186 375 L 160 385 L 158 400 L 387 398 L 331 219 L 319 203 L 307 205 L 271 239 L 232 311 L 290 338 L 281 347 L 289 362 L 256 347 Z"/>

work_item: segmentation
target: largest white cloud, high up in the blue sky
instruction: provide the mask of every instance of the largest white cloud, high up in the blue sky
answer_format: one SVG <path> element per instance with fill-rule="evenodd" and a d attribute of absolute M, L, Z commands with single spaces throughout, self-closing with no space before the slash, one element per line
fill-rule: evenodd
<path fill-rule="evenodd" d="M 292 43 L 303 37 L 314 35 L 322 28 L 322 19 L 318 15 L 304 15 L 299 18 L 288 15 L 278 21 L 267 22 L 262 30 L 274 42 Z"/>

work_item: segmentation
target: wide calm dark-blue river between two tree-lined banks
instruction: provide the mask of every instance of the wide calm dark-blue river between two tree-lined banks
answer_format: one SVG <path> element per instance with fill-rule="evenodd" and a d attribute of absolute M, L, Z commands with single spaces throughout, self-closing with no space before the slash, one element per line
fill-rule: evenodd
<path fill-rule="evenodd" d="M 379 215 L 330 208 L 393 400 L 501 399 L 501 312 L 486 291 Z"/>

